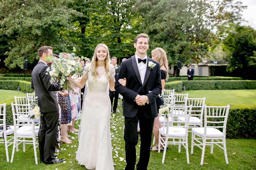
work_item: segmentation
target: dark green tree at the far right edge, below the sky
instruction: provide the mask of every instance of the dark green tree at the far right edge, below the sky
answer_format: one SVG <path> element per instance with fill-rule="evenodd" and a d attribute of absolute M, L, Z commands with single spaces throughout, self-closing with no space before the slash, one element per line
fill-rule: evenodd
<path fill-rule="evenodd" d="M 242 68 L 244 78 L 247 79 L 248 66 L 254 65 L 252 57 L 256 51 L 256 30 L 250 26 L 229 24 L 226 29 L 226 36 L 223 37 L 224 50 L 229 52 L 229 69 Z"/>

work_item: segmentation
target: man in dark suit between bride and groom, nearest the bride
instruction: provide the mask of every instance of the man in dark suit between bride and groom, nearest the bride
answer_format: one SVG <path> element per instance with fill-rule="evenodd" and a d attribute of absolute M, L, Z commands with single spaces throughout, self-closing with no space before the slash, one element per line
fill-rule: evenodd
<path fill-rule="evenodd" d="M 120 70 L 120 66 L 116 64 L 117 62 L 117 58 L 116 57 L 112 57 L 111 58 L 111 62 L 112 62 L 112 65 L 115 67 L 115 80 L 116 80 L 116 77 L 119 73 L 119 70 Z M 111 112 L 112 112 L 112 105 L 113 105 L 113 100 L 114 100 L 114 106 L 113 106 L 113 113 L 116 113 L 116 108 L 117 108 L 117 103 L 118 103 L 118 95 L 119 93 L 118 92 L 112 92 L 110 89 L 109 89 L 109 98 L 110 98 L 110 102 L 111 102 Z"/>

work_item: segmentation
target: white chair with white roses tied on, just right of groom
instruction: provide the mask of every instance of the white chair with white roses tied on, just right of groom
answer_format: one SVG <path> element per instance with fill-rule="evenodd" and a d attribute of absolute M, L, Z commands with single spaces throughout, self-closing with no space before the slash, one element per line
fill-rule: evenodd
<path fill-rule="evenodd" d="M 159 129 L 159 141 L 158 141 L 158 153 L 160 153 L 161 144 L 164 147 L 164 154 L 162 163 L 164 163 L 165 154 L 167 145 L 179 145 L 178 152 L 180 153 L 181 145 L 186 149 L 187 155 L 187 163 L 189 164 L 189 155 L 188 155 L 188 123 L 191 114 L 192 107 L 191 106 L 168 106 L 169 109 L 163 113 L 164 115 L 164 126 Z M 180 117 L 184 117 L 184 121 L 177 121 L 174 118 L 176 117 L 176 111 L 182 109 L 185 113 Z M 170 111 L 171 110 L 171 111 Z M 167 118 L 166 118 L 167 117 Z M 169 120 L 170 117 L 170 121 Z M 166 123 L 166 127 L 165 127 Z M 178 123 L 184 124 L 183 126 L 178 126 Z M 162 136 L 164 137 L 162 137 Z M 168 139 L 173 139 L 172 141 L 168 141 Z M 175 141 L 175 139 L 179 139 L 179 141 Z M 164 141 L 164 142 L 162 142 Z"/>

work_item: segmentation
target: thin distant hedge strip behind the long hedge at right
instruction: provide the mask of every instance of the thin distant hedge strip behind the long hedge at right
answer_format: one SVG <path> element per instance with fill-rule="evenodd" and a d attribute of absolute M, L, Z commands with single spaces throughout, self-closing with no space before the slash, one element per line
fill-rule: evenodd
<path fill-rule="evenodd" d="M 167 82 L 172 82 L 172 81 L 175 81 L 176 78 L 175 77 L 170 77 L 168 78 Z M 188 80 L 188 77 L 181 77 L 181 78 L 177 78 L 177 80 L 180 80 L 180 81 L 185 81 L 185 80 Z M 243 80 L 243 78 L 240 78 L 240 77 L 213 77 L 213 76 L 209 76 L 209 77 L 194 77 L 193 78 L 193 81 L 197 81 L 197 80 L 203 80 L 203 81 L 206 81 L 206 80 Z"/>

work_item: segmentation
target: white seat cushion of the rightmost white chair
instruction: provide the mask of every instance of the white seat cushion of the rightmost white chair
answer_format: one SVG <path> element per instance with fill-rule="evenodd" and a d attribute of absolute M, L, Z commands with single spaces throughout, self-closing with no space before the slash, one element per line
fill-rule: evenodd
<path fill-rule="evenodd" d="M 192 132 L 204 136 L 204 128 L 192 128 Z M 206 137 L 223 137 L 223 133 L 216 128 L 206 128 Z"/>

